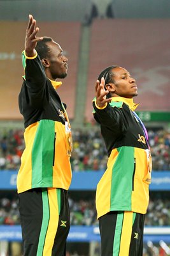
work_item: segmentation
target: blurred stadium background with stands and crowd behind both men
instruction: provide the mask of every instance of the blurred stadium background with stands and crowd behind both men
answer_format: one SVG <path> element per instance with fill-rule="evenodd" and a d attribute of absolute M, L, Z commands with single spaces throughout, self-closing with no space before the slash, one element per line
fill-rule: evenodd
<path fill-rule="evenodd" d="M 52 36 L 69 58 L 58 89 L 74 140 L 67 256 L 100 255 L 95 189 L 107 157 L 91 102 L 98 74 L 110 65 L 136 78 L 138 114 L 150 136 L 153 173 L 143 255 L 170 255 L 169 0 L 0 0 L 0 255 L 22 255 L 16 177 L 24 125 L 18 93 L 29 13 L 39 35 Z"/>

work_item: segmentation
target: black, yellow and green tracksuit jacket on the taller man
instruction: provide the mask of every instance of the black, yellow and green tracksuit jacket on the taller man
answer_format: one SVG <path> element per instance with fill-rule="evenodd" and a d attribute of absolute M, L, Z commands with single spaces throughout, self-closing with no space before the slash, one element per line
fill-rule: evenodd
<path fill-rule="evenodd" d="M 68 189 L 71 183 L 68 120 L 55 87 L 46 78 L 39 56 L 22 53 L 25 78 L 18 97 L 25 121 L 25 150 L 17 177 L 18 193 L 31 188 Z"/>

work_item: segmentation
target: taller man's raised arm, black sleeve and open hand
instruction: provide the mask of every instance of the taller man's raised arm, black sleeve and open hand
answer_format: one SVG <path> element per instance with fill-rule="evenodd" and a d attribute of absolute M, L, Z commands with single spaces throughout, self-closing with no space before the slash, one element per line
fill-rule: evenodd
<path fill-rule="evenodd" d="M 22 65 L 25 73 L 22 93 L 26 95 L 27 102 L 32 108 L 39 108 L 45 99 L 46 74 L 35 49 L 37 43 L 43 40 L 43 37 L 36 36 L 38 31 L 36 20 L 29 15 L 25 51 L 22 52 Z"/>

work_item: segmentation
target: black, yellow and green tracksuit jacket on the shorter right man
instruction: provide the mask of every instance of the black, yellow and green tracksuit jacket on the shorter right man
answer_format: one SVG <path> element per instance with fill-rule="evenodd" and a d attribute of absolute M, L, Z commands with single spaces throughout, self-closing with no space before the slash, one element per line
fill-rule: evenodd
<path fill-rule="evenodd" d="M 134 112 L 137 105 L 132 99 L 113 97 L 99 108 L 93 100 L 94 118 L 101 124 L 109 157 L 97 184 L 97 218 L 110 211 L 146 213 L 152 159 L 146 129 Z"/>

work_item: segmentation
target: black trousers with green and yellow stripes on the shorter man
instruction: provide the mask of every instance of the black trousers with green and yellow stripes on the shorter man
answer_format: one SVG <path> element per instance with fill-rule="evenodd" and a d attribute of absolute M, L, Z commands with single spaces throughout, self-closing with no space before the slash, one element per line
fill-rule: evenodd
<path fill-rule="evenodd" d="M 112 211 L 99 218 L 102 256 L 142 256 L 145 214 Z"/>

